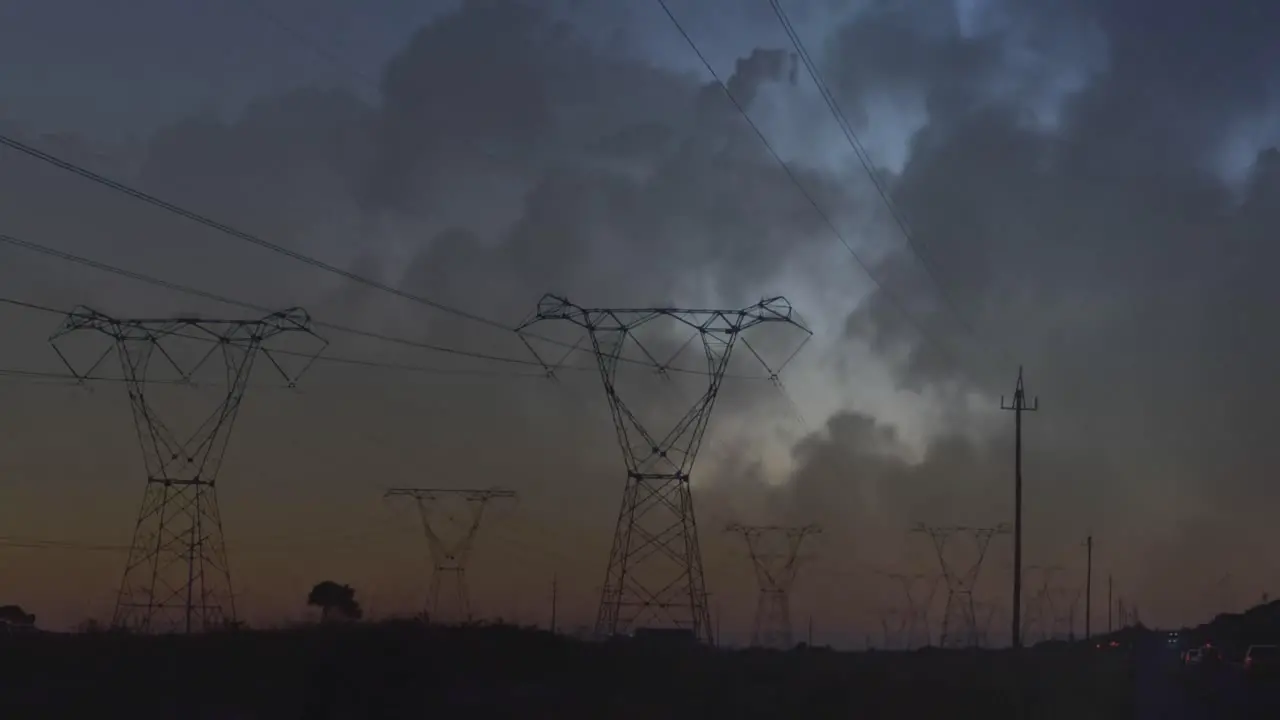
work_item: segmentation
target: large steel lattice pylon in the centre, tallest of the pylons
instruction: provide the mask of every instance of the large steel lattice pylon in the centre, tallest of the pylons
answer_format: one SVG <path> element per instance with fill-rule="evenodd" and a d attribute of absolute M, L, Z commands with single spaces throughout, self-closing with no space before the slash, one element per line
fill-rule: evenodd
<path fill-rule="evenodd" d="M 636 337 L 640 327 L 659 319 L 692 329 L 701 341 L 707 363 L 705 370 L 698 373 L 707 378 L 705 391 L 664 434 L 655 434 L 652 428 L 644 427 L 617 389 L 618 365 L 623 361 L 648 365 L 663 375 L 676 370 L 671 366 L 675 356 L 667 363 L 658 361 Z M 746 345 L 742 333 L 764 323 L 787 323 L 805 333 L 808 328 L 792 316 L 791 304 L 782 297 L 740 310 L 691 310 L 581 307 L 563 297 L 547 295 L 538 304 L 534 318 L 517 331 L 548 320 L 571 323 L 586 331 L 627 469 L 622 507 L 600 591 L 596 634 L 626 633 L 657 621 L 690 630 L 698 639 L 713 643 L 690 471 L 733 347 L 740 340 Z M 529 341 L 525 340 L 525 343 L 529 345 Z M 636 347 L 643 359 L 623 357 L 628 345 Z M 531 345 L 529 348 L 538 356 Z M 754 351 L 753 356 L 759 359 Z M 554 372 L 540 356 L 539 361 L 549 374 Z M 777 378 L 776 370 L 765 369 L 771 378 Z"/>

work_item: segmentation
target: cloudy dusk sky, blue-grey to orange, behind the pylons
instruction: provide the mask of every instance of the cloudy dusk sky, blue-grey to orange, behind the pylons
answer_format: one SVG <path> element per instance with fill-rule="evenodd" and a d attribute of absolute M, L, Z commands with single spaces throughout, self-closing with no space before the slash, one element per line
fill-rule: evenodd
<path fill-rule="evenodd" d="M 794 614 L 819 642 L 856 646 L 904 603 L 886 573 L 938 571 L 910 528 L 1010 521 L 1000 406 L 1019 366 L 1041 401 L 1024 418 L 1025 559 L 1061 568 L 1060 607 L 1083 584 L 1089 536 L 1094 628 L 1107 577 L 1164 625 L 1274 594 L 1280 569 L 1257 548 L 1280 539 L 1265 432 L 1280 420 L 1266 332 L 1280 292 L 1280 9 L 783 1 L 895 218 L 767 1 L 668 6 L 768 147 L 648 0 L 10 4 L 0 60 L 23 72 L 0 78 L 0 126 L 507 325 L 544 292 L 595 306 L 786 296 L 814 336 L 785 393 L 726 380 L 694 471 L 731 638 L 749 632 L 755 596 L 728 523 L 820 524 Z M 0 186 L 12 237 L 317 322 L 527 357 L 512 333 L 9 150 Z M 9 245 L 0 258 L 5 297 L 246 313 Z M 0 368 L 59 372 L 58 322 L 0 307 Z M 485 516 L 476 611 L 545 623 L 556 577 L 561 626 L 590 624 L 623 486 L 599 378 L 553 383 L 321 333 L 333 356 L 419 370 L 319 363 L 287 391 L 255 369 L 219 483 L 241 614 L 305 618 L 321 579 L 356 587 L 371 615 L 412 612 L 426 542 L 383 491 L 502 486 L 520 498 Z M 759 336 L 769 361 L 796 342 Z M 735 372 L 759 374 L 750 361 Z M 696 392 L 625 382 L 653 423 Z M 6 379 L 0 397 L 0 601 L 55 628 L 106 618 L 145 477 L 124 389 Z M 212 401 L 155 397 L 178 419 Z M 33 539 L 63 544 L 20 547 Z M 963 570 L 973 553 L 957 543 L 947 562 Z M 993 642 L 1007 637 L 1011 562 L 996 538 L 975 589 Z M 1027 582 L 1028 594 L 1042 584 Z"/>

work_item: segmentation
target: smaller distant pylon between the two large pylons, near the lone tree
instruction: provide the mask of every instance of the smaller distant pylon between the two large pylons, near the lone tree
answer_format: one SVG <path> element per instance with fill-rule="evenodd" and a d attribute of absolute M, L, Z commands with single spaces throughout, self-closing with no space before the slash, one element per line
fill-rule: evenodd
<path fill-rule="evenodd" d="M 422 532 L 426 534 L 426 543 L 431 551 L 431 583 L 426 601 L 428 620 L 439 623 L 453 619 L 468 623 L 471 620 L 471 594 L 467 589 L 467 560 L 471 557 L 471 547 L 480 530 L 484 509 L 490 501 L 516 497 L 516 493 L 499 488 L 392 488 L 383 497 L 412 497 L 417 503 L 417 514 L 422 519 Z M 440 501 L 448 497 L 462 500 L 470 509 L 471 516 L 461 536 L 445 539 L 440 528 L 436 527 L 438 523 L 433 521 L 433 510 L 436 510 Z M 445 591 L 444 597 L 449 601 L 452 611 L 444 610 L 445 606 L 440 605 L 442 589 Z"/>

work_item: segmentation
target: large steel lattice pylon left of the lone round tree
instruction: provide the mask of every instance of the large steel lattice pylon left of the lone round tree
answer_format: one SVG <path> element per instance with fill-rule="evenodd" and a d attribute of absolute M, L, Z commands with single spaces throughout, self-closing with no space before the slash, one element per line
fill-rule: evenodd
<path fill-rule="evenodd" d="M 59 348 L 60 338 L 78 332 L 101 333 L 111 340 L 83 370 Z M 284 333 L 306 334 L 319 342 L 315 354 L 303 355 L 306 363 L 293 373 L 275 356 L 283 351 L 264 346 Z M 179 341 L 207 343 L 207 352 L 189 364 L 182 363 L 173 347 Z M 68 314 L 50 343 L 82 380 L 95 375 L 114 351 L 147 470 L 111 624 L 137 632 L 183 633 L 234 626 L 236 601 L 218 507 L 218 471 L 259 355 L 266 356 L 293 387 L 324 350 L 326 343 L 311 332 L 310 316 L 301 309 L 291 309 L 259 320 L 118 319 L 78 307 Z M 156 365 L 172 372 L 174 379 L 150 377 Z M 225 393 L 195 430 L 179 433 L 161 419 L 148 388 L 157 382 L 195 384 L 192 377 L 210 365 L 221 365 L 220 389 Z"/>

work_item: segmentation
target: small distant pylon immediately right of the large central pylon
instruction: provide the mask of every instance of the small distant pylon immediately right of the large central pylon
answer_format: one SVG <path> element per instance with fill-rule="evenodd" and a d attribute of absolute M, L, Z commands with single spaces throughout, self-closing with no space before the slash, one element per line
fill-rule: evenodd
<path fill-rule="evenodd" d="M 818 525 L 780 528 L 732 524 L 726 532 L 737 533 L 746 541 L 755 582 L 760 588 L 751 644 L 791 650 L 795 639 L 791 634 L 790 596 L 800 570 L 800 546 L 806 537 L 818 534 L 822 529 Z"/>

